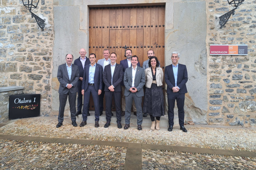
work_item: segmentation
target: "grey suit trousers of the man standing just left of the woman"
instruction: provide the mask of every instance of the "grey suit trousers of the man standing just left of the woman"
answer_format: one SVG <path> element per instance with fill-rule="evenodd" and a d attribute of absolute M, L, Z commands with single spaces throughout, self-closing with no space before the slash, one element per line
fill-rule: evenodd
<path fill-rule="evenodd" d="M 130 92 L 130 94 L 125 97 L 125 124 L 130 124 L 132 99 L 134 100 L 137 108 L 137 125 L 141 125 L 143 115 L 141 107 L 142 97 L 138 97 L 136 93 L 132 92 Z"/>

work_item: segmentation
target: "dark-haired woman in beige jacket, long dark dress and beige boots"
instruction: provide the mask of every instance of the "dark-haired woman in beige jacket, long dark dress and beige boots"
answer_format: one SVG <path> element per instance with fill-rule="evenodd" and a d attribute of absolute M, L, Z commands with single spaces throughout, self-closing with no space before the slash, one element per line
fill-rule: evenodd
<path fill-rule="evenodd" d="M 160 117 L 165 115 L 163 99 L 163 70 L 159 67 L 156 56 L 149 59 L 148 68 L 145 69 L 145 95 L 143 113 L 148 113 L 151 118 L 151 130 L 159 130 Z M 155 123 L 156 117 L 156 123 Z"/>

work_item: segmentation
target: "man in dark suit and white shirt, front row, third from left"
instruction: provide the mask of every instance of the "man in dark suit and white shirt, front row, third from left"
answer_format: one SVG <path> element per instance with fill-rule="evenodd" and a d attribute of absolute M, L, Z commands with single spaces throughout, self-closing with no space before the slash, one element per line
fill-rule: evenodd
<path fill-rule="evenodd" d="M 108 128 L 111 121 L 112 97 L 114 96 L 116 107 L 117 128 L 122 128 L 121 124 L 121 82 L 123 81 L 123 67 L 116 63 L 116 53 L 110 54 L 111 63 L 106 65 L 103 71 L 103 82 L 105 84 L 106 100 L 106 124 Z"/>

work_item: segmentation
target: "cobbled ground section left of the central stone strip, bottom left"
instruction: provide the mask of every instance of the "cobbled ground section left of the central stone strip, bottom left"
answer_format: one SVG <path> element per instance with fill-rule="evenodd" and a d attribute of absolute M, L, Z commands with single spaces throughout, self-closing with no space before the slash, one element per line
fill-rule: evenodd
<path fill-rule="evenodd" d="M 124 169 L 126 148 L 0 140 L 1 170 Z"/>

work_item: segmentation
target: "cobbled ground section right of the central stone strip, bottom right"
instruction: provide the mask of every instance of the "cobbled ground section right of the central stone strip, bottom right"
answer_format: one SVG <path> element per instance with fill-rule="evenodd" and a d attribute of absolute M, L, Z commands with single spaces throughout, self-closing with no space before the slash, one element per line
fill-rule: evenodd
<path fill-rule="evenodd" d="M 256 158 L 142 149 L 142 170 L 256 169 Z"/>

